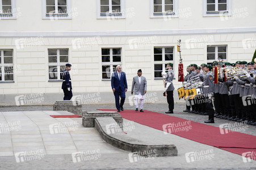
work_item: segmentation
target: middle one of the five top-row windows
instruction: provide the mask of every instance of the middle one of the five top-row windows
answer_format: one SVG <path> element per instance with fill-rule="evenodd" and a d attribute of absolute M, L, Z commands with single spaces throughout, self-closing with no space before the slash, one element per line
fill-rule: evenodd
<path fill-rule="evenodd" d="M 98 18 L 125 18 L 124 0 L 98 0 Z"/>

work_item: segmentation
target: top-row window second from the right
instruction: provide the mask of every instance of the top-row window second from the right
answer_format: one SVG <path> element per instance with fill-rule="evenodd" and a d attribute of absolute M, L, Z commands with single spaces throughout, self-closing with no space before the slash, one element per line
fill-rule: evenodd
<path fill-rule="evenodd" d="M 177 17 L 177 0 L 150 0 L 150 16 L 152 18 Z"/>

